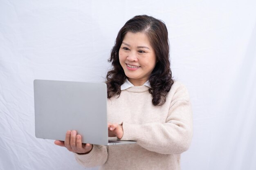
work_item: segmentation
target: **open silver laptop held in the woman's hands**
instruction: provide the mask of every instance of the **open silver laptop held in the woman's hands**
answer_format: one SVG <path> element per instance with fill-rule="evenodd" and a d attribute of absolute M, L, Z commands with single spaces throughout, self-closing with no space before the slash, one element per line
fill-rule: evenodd
<path fill-rule="evenodd" d="M 67 130 L 76 130 L 82 136 L 83 143 L 136 143 L 108 140 L 105 83 L 35 79 L 34 102 L 37 138 L 65 141 Z"/>

